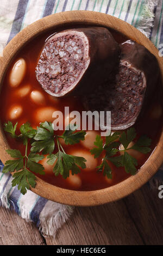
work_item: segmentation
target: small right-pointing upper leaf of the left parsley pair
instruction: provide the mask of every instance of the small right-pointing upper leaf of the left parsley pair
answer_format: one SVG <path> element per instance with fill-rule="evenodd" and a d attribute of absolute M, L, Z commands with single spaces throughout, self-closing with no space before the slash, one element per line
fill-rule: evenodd
<path fill-rule="evenodd" d="M 79 131 L 75 132 L 77 130 L 77 127 L 72 129 L 72 126 L 68 126 L 68 129 L 64 131 L 62 136 L 60 136 L 62 139 L 64 139 L 65 144 L 73 145 L 76 143 L 79 143 L 80 141 L 84 141 L 86 132 L 85 131 Z"/>

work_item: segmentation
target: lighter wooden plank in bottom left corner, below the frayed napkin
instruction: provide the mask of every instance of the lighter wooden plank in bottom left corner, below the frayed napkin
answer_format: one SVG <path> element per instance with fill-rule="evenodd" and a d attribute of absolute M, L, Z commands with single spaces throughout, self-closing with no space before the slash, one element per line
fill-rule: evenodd
<path fill-rule="evenodd" d="M 0 245 L 45 245 L 32 222 L 26 222 L 14 211 L 0 207 Z"/>

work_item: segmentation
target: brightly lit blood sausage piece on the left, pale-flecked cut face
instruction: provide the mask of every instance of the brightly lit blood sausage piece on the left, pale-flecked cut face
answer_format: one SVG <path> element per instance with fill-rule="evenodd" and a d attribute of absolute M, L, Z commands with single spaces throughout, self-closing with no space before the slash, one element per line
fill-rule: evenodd
<path fill-rule="evenodd" d="M 57 97 L 89 92 L 114 69 L 118 50 L 104 27 L 62 31 L 47 40 L 36 66 L 37 81 Z"/>

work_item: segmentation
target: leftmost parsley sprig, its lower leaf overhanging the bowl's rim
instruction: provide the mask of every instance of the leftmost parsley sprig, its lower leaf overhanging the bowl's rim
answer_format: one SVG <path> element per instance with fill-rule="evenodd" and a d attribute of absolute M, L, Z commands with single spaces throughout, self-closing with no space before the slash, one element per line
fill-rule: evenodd
<path fill-rule="evenodd" d="M 11 137 L 16 139 L 21 139 L 22 143 L 25 146 L 25 153 L 24 155 L 21 154 L 20 150 L 17 149 L 8 149 L 6 150 L 7 153 L 14 158 L 14 160 L 8 160 L 4 164 L 3 173 L 8 172 L 15 172 L 13 175 L 12 180 L 12 186 L 18 185 L 18 189 L 21 190 L 22 194 L 26 194 L 27 189 L 30 188 L 30 186 L 35 187 L 36 185 L 36 177 L 32 173 L 39 173 L 39 174 L 45 174 L 43 172 L 43 166 L 38 163 L 40 160 L 43 159 L 43 155 L 29 153 L 28 151 L 28 140 L 32 139 L 35 134 L 36 130 L 33 129 L 29 123 L 23 124 L 20 127 L 20 135 L 16 135 L 17 123 L 12 125 L 12 123 L 9 121 L 8 124 L 4 124 L 4 130 L 8 132 Z M 30 172 L 31 170 L 32 172 Z"/>

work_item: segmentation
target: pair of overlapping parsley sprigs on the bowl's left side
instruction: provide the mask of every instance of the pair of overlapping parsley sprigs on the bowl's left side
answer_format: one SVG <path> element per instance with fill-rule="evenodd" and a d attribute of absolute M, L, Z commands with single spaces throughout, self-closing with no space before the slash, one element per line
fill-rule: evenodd
<path fill-rule="evenodd" d="M 44 167 L 39 163 L 47 155 L 48 164 L 54 164 L 53 172 L 57 176 L 61 174 L 63 178 L 67 178 L 72 174 L 79 173 L 80 168 L 84 169 L 86 160 L 83 157 L 77 157 L 68 155 L 62 148 L 59 138 L 64 139 L 65 144 L 76 144 L 80 140 L 85 139 L 85 131 L 76 132 L 76 127 L 70 130 L 64 131 L 61 136 L 54 135 L 52 123 L 45 121 L 41 123 L 37 129 L 33 129 L 29 123 L 23 124 L 20 127 L 20 134 L 16 135 L 17 123 L 13 126 L 11 121 L 4 124 L 4 131 L 8 132 L 12 138 L 21 140 L 25 152 L 21 154 L 20 150 L 8 149 L 7 153 L 14 158 L 14 160 L 8 160 L 5 162 L 3 173 L 15 172 L 13 175 L 12 186 L 18 185 L 18 189 L 22 194 L 26 194 L 27 189 L 30 186 L 36 185 L 36 174 L 43 175 Z M 52 154 L 55 149 L 55 140 L 57 140 L 58 152 Z M 27 154 L 28 146 L 31 145 L 30 153 Z M 32 171 L 32 172 L 30 172 Z"/>

